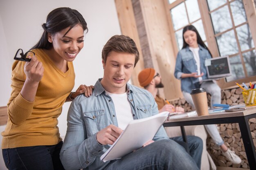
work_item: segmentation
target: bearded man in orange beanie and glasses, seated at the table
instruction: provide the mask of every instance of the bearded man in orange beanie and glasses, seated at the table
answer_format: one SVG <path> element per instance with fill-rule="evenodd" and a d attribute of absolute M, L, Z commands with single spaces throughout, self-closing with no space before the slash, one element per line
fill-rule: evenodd
<path fill-rule="evenodd" d="M 146 68 L 139 72 L 138 75 L 139 85 L 144 87 L 148 92 L 150 92 L 155 98 L 155 102 L 157 103 L 157 107 L 159 112 L 169 111 L 171 112 L 184 112 L 182 107 L 174 107 L 173 105 L 167 104 L 166 101 L 157 95 L 158 88 L 163 88 L 164 85 L 161 81 L 161 76 L 159 73 L 156 73 L 153 68 Z M 186 148 L 186 144 L 183 142 L 181 136 L 179 137 L 171 137 L 175 142 L 181 144 Z M 201 157 L 203 150 L 203 142 L 200 137 L 196 136 L 187 136 L 189 153 L 191 157 L 195 160 L 198 167 L 201 166 Z"/>

